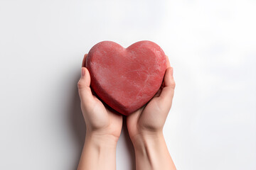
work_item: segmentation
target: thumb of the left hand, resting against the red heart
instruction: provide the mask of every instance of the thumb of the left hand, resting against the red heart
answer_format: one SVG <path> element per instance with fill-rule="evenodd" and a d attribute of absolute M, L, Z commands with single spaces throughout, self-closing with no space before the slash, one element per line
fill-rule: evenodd
<path fill-rule="evenodd" d="M 87 101 L 90 101 L 93 98 L 90 89 L 90 73 L 85 67 L 82 67 L 81 69 L 81 77 L 78 81 L 78 93 L 82 103 L 87 103 Z"/>

